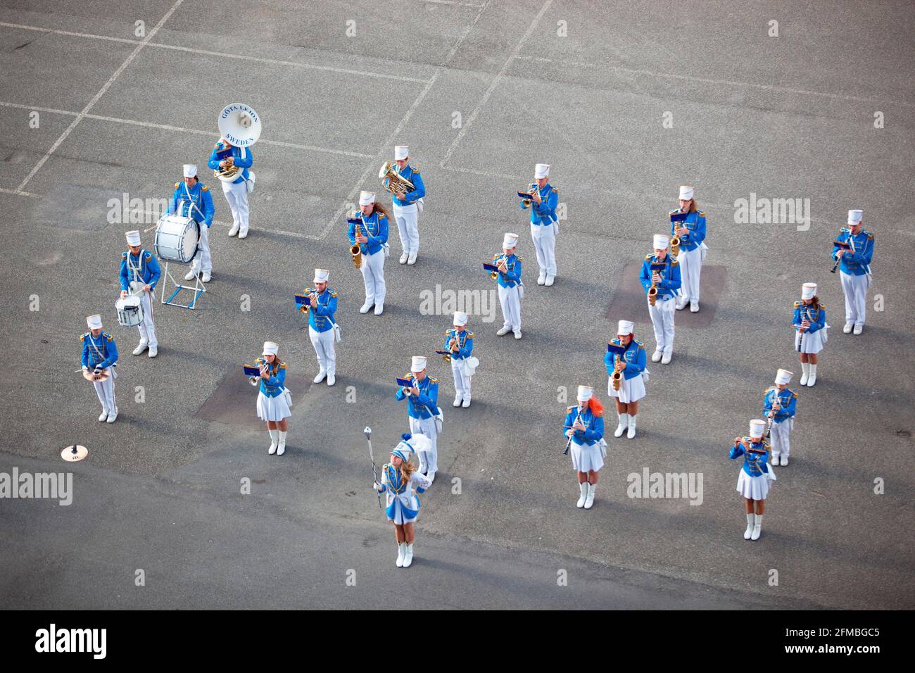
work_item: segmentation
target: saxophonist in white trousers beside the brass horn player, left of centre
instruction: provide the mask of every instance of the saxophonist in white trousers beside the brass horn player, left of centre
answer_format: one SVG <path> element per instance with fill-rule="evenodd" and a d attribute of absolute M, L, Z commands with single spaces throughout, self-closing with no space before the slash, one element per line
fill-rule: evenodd
<path fill-rule="evenodd" d="M 371 191 L 362 191 L 359 195 L 359 211 L 350 213 L 349 220 L 360 220 L 359 239 L 356 238 L 357 223 L 350 222 L 347 235 L 350 245 L 360 244 L 362 264 L 362 282 L 365 283 L 365 303 L 360 313 L 368 313 L 372 306 L 375 315 L 380 316 L 384 310 L 384 297 L 387 285 L 384 283 L 384 258 L 388 249 L 388 213 L 381 203 L 375 201 Z"/>

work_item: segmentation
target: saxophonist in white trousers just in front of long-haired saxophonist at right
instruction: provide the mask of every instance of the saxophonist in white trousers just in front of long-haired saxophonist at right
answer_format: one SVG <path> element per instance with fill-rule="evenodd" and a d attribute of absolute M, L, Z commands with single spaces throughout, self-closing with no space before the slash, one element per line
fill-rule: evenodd
<path fill-rule="evenodd" d="M 668 243 L 670 241 L 667 236 L 662 233 L 654 234 L 654 255 L 645 255 L 640 274 L 641 286 L 645 288 L 648 299 L 648 313 L 651 316 L 656 342 L 651 362 L 661 360 L 661 364 L 669 364 L 673 355 L 673 309 L 676 303 L 674 297 L 681 285 L 680 266 L 673 255 L 667 254 Z M 652 288 L 657 292 L 653 303 Z"/>

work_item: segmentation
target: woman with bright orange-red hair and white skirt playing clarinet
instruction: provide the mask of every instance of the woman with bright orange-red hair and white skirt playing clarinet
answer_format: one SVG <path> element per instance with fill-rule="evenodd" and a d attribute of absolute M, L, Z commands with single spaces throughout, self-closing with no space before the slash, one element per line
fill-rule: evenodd
<path fill-rule="evenodd" d="M 565 437 L 572 453 L 572 467 L 578 473 L 580 495 L 576 507 L 590 509 L 594 505 L 597 472 L 604 466 L 604 407 L 594 396 L 590 385 L 578 386 L 578 405 L 565 410 Z"/>

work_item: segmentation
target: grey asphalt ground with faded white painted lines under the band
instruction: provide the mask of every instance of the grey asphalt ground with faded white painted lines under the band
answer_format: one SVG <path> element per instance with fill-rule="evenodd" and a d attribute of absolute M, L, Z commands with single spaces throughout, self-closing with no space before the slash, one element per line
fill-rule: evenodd
<path fill-rule="evenodd" d="M 909 3 L 0 8 L 10 364 L 0 472 L 74 475 L 72 505 L 0 500 L 5 606 L 915 606 Z M 228 206 L 201 169 L 218 221 L 213 280 L 196 310 L 156 305 L 159 355 L 133 357 L 136 331 L 113 310 L 124 231 L 155 226 L 143 211 L 170 196 L 181 164 L 205 165 L 216 115 L 233 102 L 264 121 L 252 233 L 228 237 Z M 428 190 L 420 257 L 396 264 L 392 232 L 384 314 L 363 316 L 344 213 L 360 189 L 379 188 L 395 144 L 411 147 Z M 541 161 L 566 209 L 553 288 L 535 285 L 514 198 Z M 594 385 L 607 403 L 602 358 L 617 320 L 635 320 L 651 350 L 624 269 L 666 230 L 680 184 L 696 186 L 707 216 L 708 313 L 677 314 L 673 363 L 651 364 L 638 438 L 608 438 L 597 503 L 578 510 L 560 386 L 574 396 Z M 751 194 L 809 200 L 810 226 L 739 223 L 736 201 Z M 141 200 L 131 210 L 142 222 L 109 221 L 123 195 Z M 858 337 L 842 334 L 829 273 L 849 208 L 864 209 L 877 241 Z M 520 342 L 495 336 L 498 300 L 480 268 L 506 231 L 522 241 Z M 152 231 L 143 240 L 151 247 Z M 333 388 L 310 383 L 317 365 L 292 301 L 316 266 L 339 293 Z M 820 284 L 833 326 L 813 388 L 797 385 L 792 349 L 791 302 L 805 281 Z M 458 290 L 485 300 L 469 307 L 481 361 L 469 409 L 450 406 L 449 367 L 432 353 L 448 307 L 423 304 Z M 113 425 L 96 421 L 76 371 L 95 312 L 122 353 Z M 266 454 L 241 372 L 268 339 L 296 376 L 281 458 Z M 417 562 L 400 571 L 362 429 L 378 456 L 406 429 L 393 377 L 414 354 L 430 356 L 445 431 Z M 763 536 L 750 543 L 727 448 L 759 416 L 778 367 L 796 373 L 799 393 L 791 465 L 777 470 Z M 64 465 L 59 451 L 74 440 L 90 457 Z M 630 497 L 628 476 L 645 469 L 701 474 L 701 505 Z"/>

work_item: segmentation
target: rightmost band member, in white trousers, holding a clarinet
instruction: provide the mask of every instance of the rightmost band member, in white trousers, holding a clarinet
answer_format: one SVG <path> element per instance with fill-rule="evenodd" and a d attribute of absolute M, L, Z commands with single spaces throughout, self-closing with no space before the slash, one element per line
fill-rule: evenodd
<path fill-rule="evenodd" d="M 863 217 L 864 211 L 848 211 L 848 229 L 839 233 L 833 245 L 833 259 L 841 265 L 839 275 L 845 293 L 845 334 L 853 329 L 856 334 L 864 330 L 874 234 L 862 229 Z"/>

